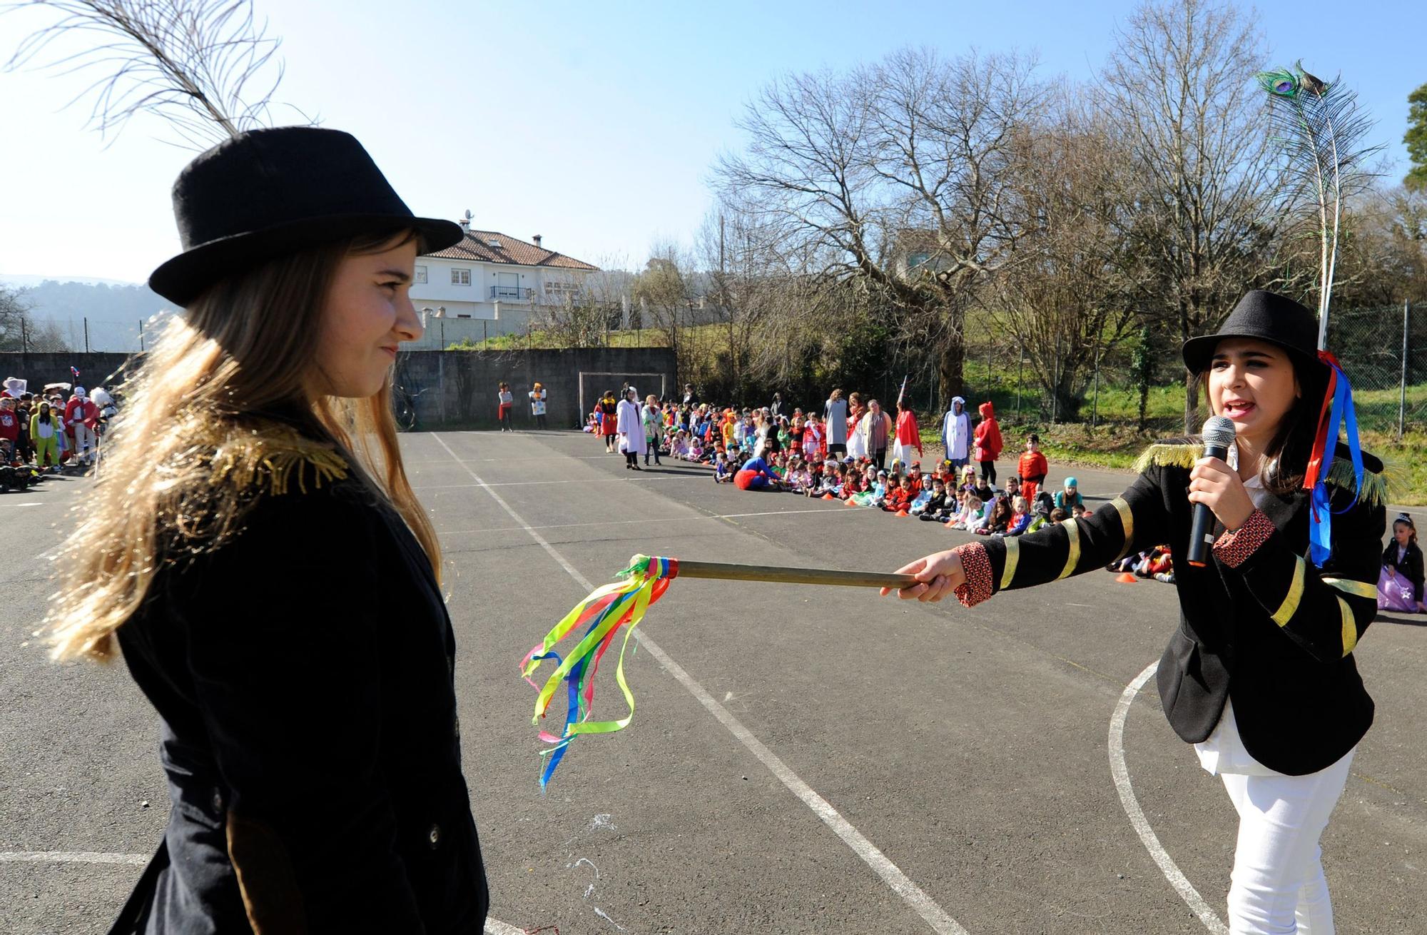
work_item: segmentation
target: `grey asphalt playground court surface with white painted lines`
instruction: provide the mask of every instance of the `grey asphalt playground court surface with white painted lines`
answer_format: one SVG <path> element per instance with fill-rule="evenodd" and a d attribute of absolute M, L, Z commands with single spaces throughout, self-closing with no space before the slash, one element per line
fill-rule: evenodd
<path fill-rule="evenodd" d="M 1173 587 L 1090 572 L 965 610 L 674 581 L 625 659 L 632 725 L 575 742 L 541 794 L 517 662 L 631 554 L 889 571 L 970 537 L 668 460 L 632 474 L 581 433 L 402 441 L 445 548 L 488 932 L 1226 931 L 1233 808 L 1153 684 Z M 1072 472 L 1092 507 L 1127 484 Z M 167 821 L 123 665 L 50 664 L 33 635 L 91 484 L 0 495 L 6 935 L 106 932 Z M 1357 647 L 1377 722 L 1323 841 L 1340 932 L 1427 932 L 1424 622 L 1380 614 Z M 608 657 L 595 704 L 625 712 Z"/>

